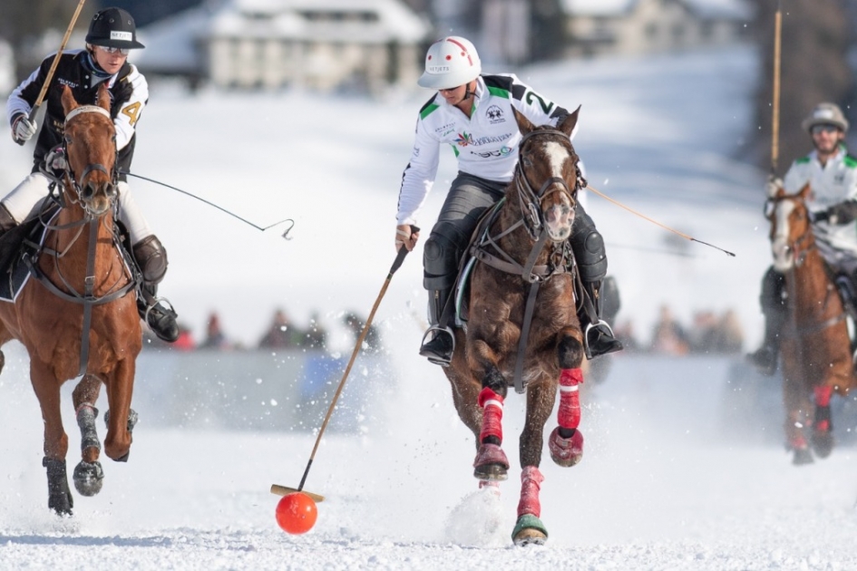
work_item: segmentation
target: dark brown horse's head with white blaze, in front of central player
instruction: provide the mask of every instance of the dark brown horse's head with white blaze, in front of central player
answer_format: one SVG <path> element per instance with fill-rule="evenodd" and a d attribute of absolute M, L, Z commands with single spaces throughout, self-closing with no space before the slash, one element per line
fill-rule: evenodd
<path fill-rule="evenodd" d="M 570 140 L 579 111 L 578 107 L 556 128 L 536 127 L 514 111 L 523 135 L 518 147 L 515 187 L 525 225 L 533 239 L 537 239 L 542 228 L 553 242 L 562 242 L 571 235 L 577 193 L 583 181 L 579 157 Z"/>

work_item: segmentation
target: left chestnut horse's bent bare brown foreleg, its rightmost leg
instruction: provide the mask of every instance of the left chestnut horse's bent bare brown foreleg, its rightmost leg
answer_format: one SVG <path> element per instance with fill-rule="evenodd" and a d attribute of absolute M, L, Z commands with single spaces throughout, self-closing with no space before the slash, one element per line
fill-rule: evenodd
<path fill-rule="evenodd" d="M 131 453 L 131 431 L 137 418 L 137 413 L 131 411 L 135 368 L 133 359 L 123 359 L 116 363 L 110 380 L 105 382 L 110 410 L 105 414 L 104 452 L 117 462 L 127 462 Z"/>

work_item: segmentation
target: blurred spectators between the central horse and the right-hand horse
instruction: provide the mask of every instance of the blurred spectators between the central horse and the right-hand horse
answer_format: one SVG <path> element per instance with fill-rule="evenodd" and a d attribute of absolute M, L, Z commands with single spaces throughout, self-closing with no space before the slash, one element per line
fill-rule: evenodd
<path fill-rule="evenodd" d="M 734 310 L 720 315 L 698 311 L 689 326 L 679 323 L 667 305 L 661 305 L 648 343 L 640 343 L 634 324 L 626 321 L 613 328 L 626 351 L 686 355 L 690 353 L 741 353 L 744 331 Z"/>

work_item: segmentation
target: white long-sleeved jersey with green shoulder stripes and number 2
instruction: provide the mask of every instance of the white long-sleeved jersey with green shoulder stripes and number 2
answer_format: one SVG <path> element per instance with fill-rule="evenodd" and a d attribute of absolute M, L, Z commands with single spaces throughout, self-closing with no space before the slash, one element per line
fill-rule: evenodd
<path fill-rule="evenodd" d="M 416 121 L 414 150 L 402 177 L 396 224 L 416 222 L 414 216 L 433 187 L 443 143 L 453 148 L 461 172 L 482 179 L 511 181 L 521 143 L 512 109 L 534 125 L 554 127 L 569 114 L 512 74 L 477 78 L 470 117 L 435 93 Z"/>

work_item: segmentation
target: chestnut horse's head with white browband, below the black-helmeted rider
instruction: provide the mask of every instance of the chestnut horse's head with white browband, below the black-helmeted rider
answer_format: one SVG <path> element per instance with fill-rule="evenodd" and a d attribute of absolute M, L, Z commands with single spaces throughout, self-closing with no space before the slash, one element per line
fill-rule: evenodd
<path fill-rule="evenodd" d="M 81 105 L 63 85 L 65 126 L 63 144 L 71 174 L 71 187 L 88 216 L 99 217 L 116 200 L 116 129 L 110 116 L 110 94 L 102 83 L 97 105 Z"/>

